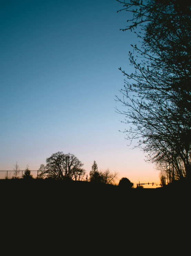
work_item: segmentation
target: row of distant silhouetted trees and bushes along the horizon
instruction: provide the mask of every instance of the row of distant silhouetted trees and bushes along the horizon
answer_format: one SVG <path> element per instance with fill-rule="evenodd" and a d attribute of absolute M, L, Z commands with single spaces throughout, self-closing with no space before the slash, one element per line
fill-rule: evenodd
<path fill-rule="evenodd" d="M 90 183 L 96 184 L 107 184 L 113 186 L 120 186 L 124 188 L 133 188 L 134 184 L 130 182 L 130 180 L 126 177 L 120 179 L 119 183 L 116 183 L 118 178 L 118 173 L 115 171 L 112 173 L 109 169 L 107 170 L 98 170 L 98 165 L 96 161 L 93 162 L 92 169 L 88 175 L 86 175 L 86 170 L 84 170 L 83 163 L 73 154 L 68 153 L 64 154 L 63 152 L 58 151 L 57 153 L 52 154 L 51 157 L 46 159 L 46 165 L 40 165 L 40 168 L 37 172 L 36 179 L 38 180 L 59 180 L 65 182 L 72 181 L 86 181 Z M 8 177 L 8 171 L 5 175 L 5 179 L 13 179 L 13 180 L 32 180 L 33 176 L 31 175 L 31 171 L 29 169 L 29 165 L 27 165 L 24 170 L 24 174 L 20 176 L 19 165 L 16 162 L 14 165 L 14 174 L 12 177 Z M 85 176 L 86 175 L 86 176 Z"/>

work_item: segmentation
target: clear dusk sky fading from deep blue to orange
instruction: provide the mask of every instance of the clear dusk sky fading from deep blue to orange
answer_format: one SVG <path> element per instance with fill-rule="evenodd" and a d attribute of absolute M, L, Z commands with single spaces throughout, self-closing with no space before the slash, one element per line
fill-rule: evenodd
<path fill-rule="evenodd" d="M 160 183 L 155 165 L 128 147 L 115 107 L 132 73 L 129 12 L 116 0 L 4 0 L 0 3 L 0 170 L 37 170 L 62 151 L 137 183 Z M 134 142 L 136 144 L 136 142 Z M 0 172 L 0 177 L 4 172 Z M 35 175 L 34 175 L 35 176 Z M 152 185 L 144 187 L 152 188 Z M 153 186 L 153 188 L 156 186 Z"/>

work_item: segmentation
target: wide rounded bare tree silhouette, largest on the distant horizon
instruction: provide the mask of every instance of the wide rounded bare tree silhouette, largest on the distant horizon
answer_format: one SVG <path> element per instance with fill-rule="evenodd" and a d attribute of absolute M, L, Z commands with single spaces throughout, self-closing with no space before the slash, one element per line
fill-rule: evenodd
<path fill-rule="evenodd" d="M 58 151 L 46 160 L 47 165 L 39 168 L 40 178 L 55 178 L 71 180 L 82 180 L 86 171 L 82 168 L 82 162 L 73 154 L 64 154 Z"/>

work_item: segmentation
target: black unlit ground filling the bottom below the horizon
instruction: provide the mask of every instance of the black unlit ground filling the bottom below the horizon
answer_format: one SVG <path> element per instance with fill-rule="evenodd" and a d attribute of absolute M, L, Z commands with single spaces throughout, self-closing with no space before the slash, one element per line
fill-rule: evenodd
<path fill-rule="evenodd" d="M 0 180 L 0 255 L 187 255 L 188 192 Z"/>

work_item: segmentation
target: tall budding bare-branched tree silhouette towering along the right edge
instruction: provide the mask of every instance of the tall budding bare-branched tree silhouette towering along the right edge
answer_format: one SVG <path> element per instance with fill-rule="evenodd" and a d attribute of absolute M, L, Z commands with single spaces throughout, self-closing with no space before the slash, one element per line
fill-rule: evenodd
<path fill-rule="evenodd" d="M 129 53 L 135 73 L 127 77 L 123 98 L 117 97 L 128 111 L 124 123 L 132 126 L 124 132 L 128 139 L 138 139 L 138 146 L 148 153 L 148 160 L 170 163 L 181 178 L 179 160 L 186 176 L 191 175 L 191 4 L 180 0 L 130 0 L 118 2 L 122 10 L 132 12 L 130 25 L 142 39 L 142 47 L 133 46 L 142 61 Z M 121 10 L 120 10 L 121 11 Z M 127 100 L 125 100 L 127 98 Z M 179 160 L 177 160 L 179 159 Z"/>

